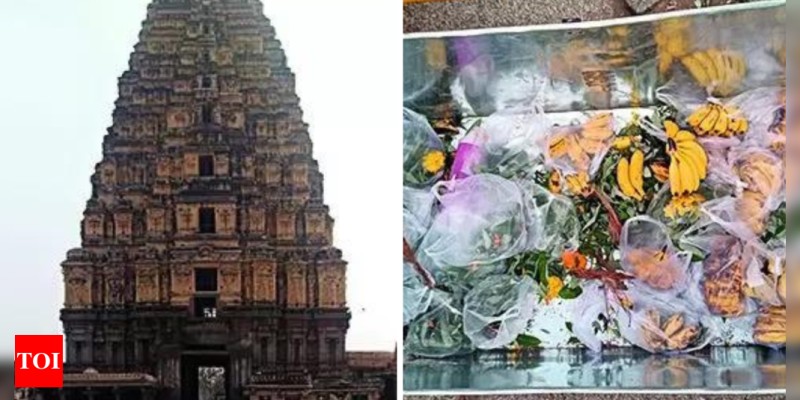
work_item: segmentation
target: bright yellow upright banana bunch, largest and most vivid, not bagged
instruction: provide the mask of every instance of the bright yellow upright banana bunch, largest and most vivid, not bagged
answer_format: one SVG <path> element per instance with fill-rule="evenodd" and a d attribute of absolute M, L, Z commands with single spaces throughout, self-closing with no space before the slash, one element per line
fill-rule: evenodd
<path fill-rule="evenodd" d="M 696 192 L 700 181 L 706 178 L 708 156 L 697 138 L 681 130 L 673 121 L 665 121 L 667 131 L 667 154 L 669 163 L 669 186 L 673 195 Z"/>

